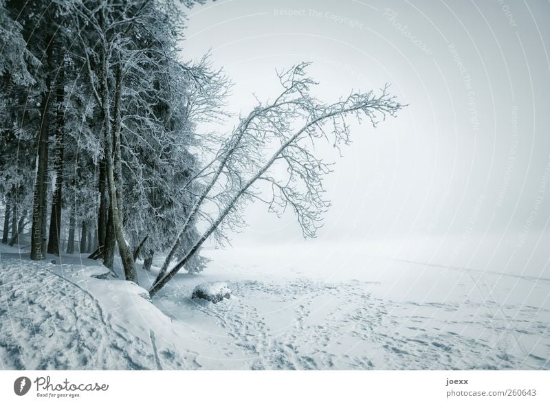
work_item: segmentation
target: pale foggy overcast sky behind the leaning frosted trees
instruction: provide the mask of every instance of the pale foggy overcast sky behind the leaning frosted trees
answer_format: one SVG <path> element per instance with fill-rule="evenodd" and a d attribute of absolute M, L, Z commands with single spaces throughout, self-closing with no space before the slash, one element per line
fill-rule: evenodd
<path fill-rule="evenodd" d="M 548 1 L 208 2 L 188 12 L 185 58 L 234 81 L 230 108 L 277 91 L 275 69 L 311 60 L 324 98 L 388 82 L 404 103 L 354 126 L 327 180 L 321 240 L 496 234 L 531 243 L 550 212 Z M 256 204 L 237 240 L 300 239 Z M 472 236 L 473 237 L 473 236 Z M 527 240 L 527 241 L 526 241 Z"/>

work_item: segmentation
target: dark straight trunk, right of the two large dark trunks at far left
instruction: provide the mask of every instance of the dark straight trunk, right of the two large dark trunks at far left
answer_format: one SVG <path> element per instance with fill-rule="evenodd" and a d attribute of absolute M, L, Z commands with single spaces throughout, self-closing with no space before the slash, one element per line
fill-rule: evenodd
<path fill-rule="evenodd" d="M 54 170 L 56 172 L 56 183 L 52 194 L 52 214 L 50 216 L 50 237 L 47 243 L 47 252 L 49 254 L 59 255 L 59 235 L 61 232 L 61 202 L 63 187 L 63 148 L 65 135 L 65 111 L 63 101 L 65 100 L 65 76 L 63 71 L 63 56 L 60 60 L 58 71 L 58 83 L 56 89 L 56 149 L 54 157 Z"/>

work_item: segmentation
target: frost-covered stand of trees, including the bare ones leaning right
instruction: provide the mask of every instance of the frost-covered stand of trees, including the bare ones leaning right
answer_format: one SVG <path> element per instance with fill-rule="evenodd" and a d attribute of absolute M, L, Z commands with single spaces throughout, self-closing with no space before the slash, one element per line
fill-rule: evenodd
<path fill-rule="evenodd" d="M 223 117 L 229 83 L 206 57 L 179 60 L 177 3 L 8 2 L 2 13 L 3 243 L 20 245 L 28 226 L 32 260 L 78 251 L 109 269 L 116 249 L 135 283 L 136 258 L 166 254 L 151 295 L 179 269 L 202 270 L 202 243 L 241 224 L 241 205 L 262 198 L 256 182 L 270 183 L 270 210 L 292 207 L 314 236 L 329 166 L 310 145 L 346 144 L 347 118 L 375 126 L 401 108 L 386 89 L 316 100 L 303 63 L 231 133 L 199 134 Z"/>

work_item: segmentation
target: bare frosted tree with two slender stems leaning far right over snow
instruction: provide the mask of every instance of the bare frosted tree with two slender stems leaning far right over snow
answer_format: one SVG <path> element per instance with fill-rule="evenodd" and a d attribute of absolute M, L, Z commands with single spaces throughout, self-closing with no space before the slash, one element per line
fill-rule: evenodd
<path fill-rule="evenodd" d="M 403 107 L 388 93 L 387 85 L 380 93 L 351 93 L 337 102 L 322 102 L 311 94 L 311 87 L 318 83 L 306 75 L 308 65 L 301 63 L 278 74 L 281 93 L 272 102 L 259 103 L 243 117 L 214 161 L 208 164 L 215 168 L 149 290 L 151 297 L 186 265 L 212 234 L 220 232 L 223 225 L 234 227 L 242 223 L 242 207 L 252 199 L 267 203 L 269 210 L 276 214 L 292 208 L 303 235 L 314 237 L 322 214 L 329 207 L 329 201 L 323 197 L 323 179 L 331 171 L 330 164 L 316 153 L 316 144 L 323 139 L 335 148 L 349 144 L 349 118 L 358 122 L 366 119 L 376 127 L 380 120 L 395 116 Z M 281 165 L 285 170 L 280 169 Z M 260 183 L 267 183 L 270 189 L 267 199 L 260 192 Z M 204 205 L 209 201 L 217 206 L 217 214 L 205 212 Z M 168 270 L 181 235 L 199 214 L 209 222 L 206 231 Z"/>

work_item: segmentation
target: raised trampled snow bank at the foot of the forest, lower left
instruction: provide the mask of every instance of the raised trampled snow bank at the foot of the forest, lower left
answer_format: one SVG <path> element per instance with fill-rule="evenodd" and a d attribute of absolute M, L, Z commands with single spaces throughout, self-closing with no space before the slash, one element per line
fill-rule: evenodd
<path fill-rule="evenodd" d="M 155 330 L 165 333 L 171 321 L 140 296 L 143 289 L 90 278 L 105 273 L 91 263 L 53 265 L 0 254 L 0 368 L 198 367 L 192 364 L 195 355 L 166 339 L 157 342 Z"/>

